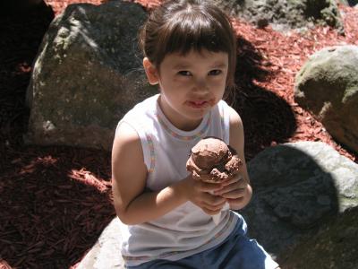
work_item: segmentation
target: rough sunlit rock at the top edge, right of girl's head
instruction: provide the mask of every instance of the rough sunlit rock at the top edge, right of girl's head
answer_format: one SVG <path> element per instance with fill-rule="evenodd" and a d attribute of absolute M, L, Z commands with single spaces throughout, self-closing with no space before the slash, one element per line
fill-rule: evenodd
<path fill-rule="evenodd" d="M 335 0 L 214 0 L 234 17 L 253 22 L 259 27 L 268 23 L 276 30 L 301 29 L 314 23 L 343 31 L 343 23 Z"/>

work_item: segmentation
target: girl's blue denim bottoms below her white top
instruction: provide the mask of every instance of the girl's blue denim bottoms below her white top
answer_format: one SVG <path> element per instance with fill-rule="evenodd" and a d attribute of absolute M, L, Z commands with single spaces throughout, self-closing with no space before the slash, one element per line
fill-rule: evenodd
<path fill-rule="evenodd" d="M 255 239 L 246 237 L 243 217 L 227 239 L 216 247 L 177 261 L 153 260 L 128 269 L 275 269 L 277 263 Z"/>

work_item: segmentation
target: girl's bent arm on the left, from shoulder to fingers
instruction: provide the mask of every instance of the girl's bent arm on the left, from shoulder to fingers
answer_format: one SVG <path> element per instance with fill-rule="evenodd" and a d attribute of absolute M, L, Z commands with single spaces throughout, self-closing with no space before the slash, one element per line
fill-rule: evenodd
<path fill-rule="evenodd" d="M 192 176 L 157 192 L 145 192 L 147 167 L 144 164 L 141 139 L 131 126 L 118 127 L 112 150 L 112 190 L 115 212 L 128 225 L 152 221 L 187 202 L 199 205 L 205 212 L 218 213 L 226 200 L 209 195 L 215 184 L 201 184 Z"/>

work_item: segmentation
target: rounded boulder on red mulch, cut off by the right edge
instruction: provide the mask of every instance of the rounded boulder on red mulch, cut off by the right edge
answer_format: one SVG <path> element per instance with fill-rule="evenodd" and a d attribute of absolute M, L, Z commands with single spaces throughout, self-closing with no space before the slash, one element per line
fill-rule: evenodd
<path fill-rule="evenodd" d="M 358 152 L 358 46 L 323 48 L 296 75 L 294 100 Z"/>

